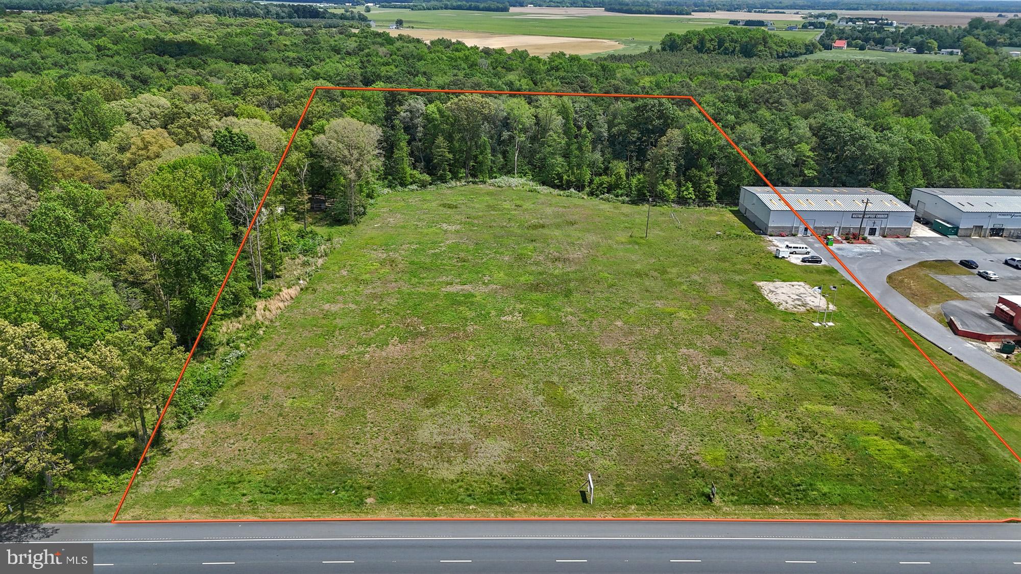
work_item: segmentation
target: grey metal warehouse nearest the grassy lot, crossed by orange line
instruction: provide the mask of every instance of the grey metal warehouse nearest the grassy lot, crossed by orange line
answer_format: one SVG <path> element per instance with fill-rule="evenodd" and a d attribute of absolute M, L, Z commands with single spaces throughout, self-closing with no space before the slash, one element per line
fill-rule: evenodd
<path fill-rule="evenodd" d="M 806 223 L 820 235 L 911 235 L 915 210 L 871 187 L 778 187 Z M 738 209 L 768 235 L 810 235 L 768 187 L 742 187 Z"/>

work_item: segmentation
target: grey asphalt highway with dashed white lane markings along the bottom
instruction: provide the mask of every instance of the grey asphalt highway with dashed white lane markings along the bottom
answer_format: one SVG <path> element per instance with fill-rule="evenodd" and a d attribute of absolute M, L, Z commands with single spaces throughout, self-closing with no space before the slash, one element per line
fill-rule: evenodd
<path fill-rule="evenodd" d="M 1021 574 L 1021 524 L 386 521 L 46 524 L 4 541 L 95 544 L 95 572 Z M 38 547 L 38 546 L 35 546 Z"/>

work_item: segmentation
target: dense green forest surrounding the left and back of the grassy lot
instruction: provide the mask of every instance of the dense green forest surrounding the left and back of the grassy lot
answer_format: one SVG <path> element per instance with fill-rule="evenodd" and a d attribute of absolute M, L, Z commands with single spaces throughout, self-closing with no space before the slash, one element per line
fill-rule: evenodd
<path fill-rule="evenodd" d="M 1017 58 L 539 58 L 224 5 L 0 19 L 4 500 L 124 485 L 249 225 L 171 426 L 332 244 L 312 204 L 351 224 L 391 189 L 451 180 L 677 202 L 733 201 L 756 183 L 683 101 L 333 91 L 256 217 L 313 86 L 692 95 L 778 185 L 1021 187 Z"/>

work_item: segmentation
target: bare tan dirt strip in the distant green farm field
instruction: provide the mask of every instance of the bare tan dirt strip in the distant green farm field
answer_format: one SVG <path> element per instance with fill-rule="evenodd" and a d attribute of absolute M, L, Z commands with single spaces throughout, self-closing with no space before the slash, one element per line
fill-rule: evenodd
<path fill-rule="evenodd" d="M 485 32 L 464 32 L 459 30 L 388 30 L 397 36 L 403 34 L 431 42 L 437 38 L 459 41 L 480 48 L 504 48 L 527 50 L 533 56 L 548 56 L 553 52 L 569 54 L 594 54 L 623 48 L 624 44 L 613 40 L 595 38 L 568 38 L 565 36 L 529 36 L 523 34 L 488 34 Z"/>

